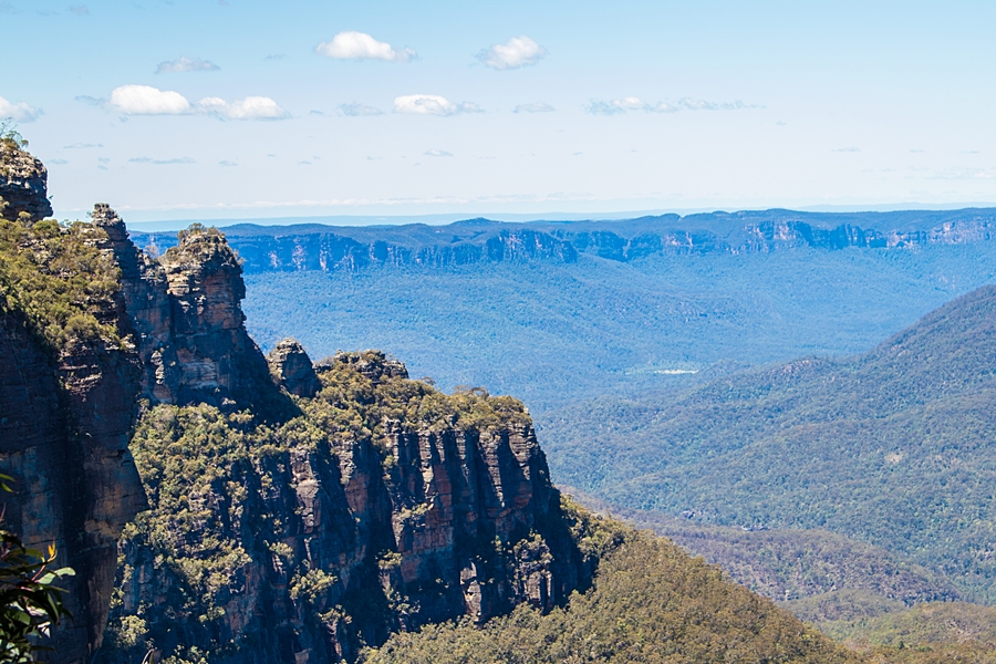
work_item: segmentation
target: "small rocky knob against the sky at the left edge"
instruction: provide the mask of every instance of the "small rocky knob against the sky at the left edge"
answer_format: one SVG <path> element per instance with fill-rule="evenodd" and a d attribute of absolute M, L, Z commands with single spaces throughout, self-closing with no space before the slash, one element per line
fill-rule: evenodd
<path fill-rule="evenodd" d="M 23 214 L 30 221 L 51 217 L 48 187 L 44 164 L 24 151 L 18 139 L 0 138 L 0 216 L 13 220 Z"/>

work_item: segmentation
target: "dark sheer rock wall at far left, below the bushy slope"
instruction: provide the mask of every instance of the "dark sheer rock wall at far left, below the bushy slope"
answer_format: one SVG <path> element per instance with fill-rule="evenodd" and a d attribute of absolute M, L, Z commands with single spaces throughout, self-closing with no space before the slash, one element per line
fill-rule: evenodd
<path fill-rule="evenodd" d="M 116 303 L 120 309 L 120 302 Z M 111 308 L 102 312 L 115 320 Z M 124 321 L 118 321 L 124 326 Z M 128 440 L 139 373 L 134 352 L 105 340 L 46 347 L 21 312 L 0 310 L 0 497 L 4 527 L 28 546 L 54 544 L 74 620 L 54 632 L 56 662 L 100 647 L 122 528 L 146 505 Z"/>

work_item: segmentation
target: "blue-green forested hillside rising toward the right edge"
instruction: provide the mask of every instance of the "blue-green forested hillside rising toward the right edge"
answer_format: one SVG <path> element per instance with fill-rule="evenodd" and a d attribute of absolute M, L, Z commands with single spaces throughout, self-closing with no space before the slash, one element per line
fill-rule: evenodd
<path fill-rule="evenodd" d="M 625 435 L 552 436 L 554 473 L 701 522 L 821 528 L 996 599 L 996 287 L 852 360 L 809 357 L 642 404 Z M 606 432 L 616 423 L 603 413 Z"/>

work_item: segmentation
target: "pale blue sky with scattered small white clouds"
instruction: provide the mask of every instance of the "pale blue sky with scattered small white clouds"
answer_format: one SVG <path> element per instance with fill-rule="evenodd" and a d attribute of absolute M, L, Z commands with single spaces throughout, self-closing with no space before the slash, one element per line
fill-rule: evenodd
<path fill-rule="evenodd" d="M 992 205 L 993 25 L 956 0 L 0 0 L 0 118 L 70 219 Z"/>

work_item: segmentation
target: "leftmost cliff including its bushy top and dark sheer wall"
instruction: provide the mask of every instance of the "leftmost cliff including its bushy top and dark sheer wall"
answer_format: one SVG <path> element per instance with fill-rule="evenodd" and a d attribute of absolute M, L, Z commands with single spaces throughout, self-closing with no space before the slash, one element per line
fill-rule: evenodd
<path fill-rule="evenodd" d="M 72 278 L 113 279 L 100 260 L 102 234 L 2 224 L 0 468 L 15 491 L 0 496 L 4 527 L 32 548 L 54 543 L 58 563 L 76 571 L 66 601 L 75 620 L 55 631 L 53 658 L 84 662 L 106 624 L 117 537 L 145 507 L 128 452 L 138 364 L 114 338 L 127 325 L 120 291 L 103 298 L 87 287 L 60 301 Z M 97 267 L 64 279 L 73 260 Z M 29 286 L 12 286 L 18 280 Z"/>

